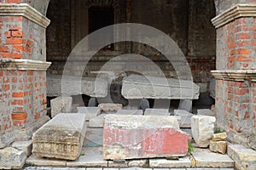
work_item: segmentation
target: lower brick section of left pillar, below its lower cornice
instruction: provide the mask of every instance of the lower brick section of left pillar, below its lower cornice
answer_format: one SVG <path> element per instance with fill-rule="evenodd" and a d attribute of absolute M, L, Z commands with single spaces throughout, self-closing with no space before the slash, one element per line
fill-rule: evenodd
<path fill-rule="evenodd" d="M 0 71 L 0 133 L 30 126 L 45 114 L 45 79 L 43 71 Z"/>

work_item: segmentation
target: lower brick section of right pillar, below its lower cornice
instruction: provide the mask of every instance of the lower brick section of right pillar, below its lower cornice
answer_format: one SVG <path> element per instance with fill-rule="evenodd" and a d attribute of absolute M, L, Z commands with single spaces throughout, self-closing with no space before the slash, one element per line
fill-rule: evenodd
<path fill-rule="evenodd" d="M 217 88 L 218 124 L 245 138 L 255 134 L 255 82 L 217 80 Z"/>

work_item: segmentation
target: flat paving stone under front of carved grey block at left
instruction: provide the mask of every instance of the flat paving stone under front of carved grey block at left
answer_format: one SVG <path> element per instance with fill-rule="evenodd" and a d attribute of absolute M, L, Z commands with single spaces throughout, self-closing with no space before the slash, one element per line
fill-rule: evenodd
<path fill-rule="evenodd" d="M 33 164 L 34 166 L 63 167 L 66 166 L 66 161 L 56 160 L 53 158 L 38 157 L 32 154 L 26 159 L 26 164 Z"/>

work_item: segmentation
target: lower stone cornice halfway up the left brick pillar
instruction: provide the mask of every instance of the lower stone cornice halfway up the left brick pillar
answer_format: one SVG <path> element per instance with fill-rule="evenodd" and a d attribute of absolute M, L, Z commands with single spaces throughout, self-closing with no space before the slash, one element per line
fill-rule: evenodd
<path fill-rule="evenodd" d="M 46 71 L 51 62 L 32 59 L 0 59 L 0 70 Z"/>

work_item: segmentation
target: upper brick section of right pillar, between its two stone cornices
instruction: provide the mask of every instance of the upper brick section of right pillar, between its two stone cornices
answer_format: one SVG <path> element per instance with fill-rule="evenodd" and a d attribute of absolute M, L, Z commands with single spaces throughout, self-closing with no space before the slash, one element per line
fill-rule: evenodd
<path fill-rule="evenodd" d="M 256 69 L 256 19 L 240 18 L 221 27 L 217 31 L 217 69 Z"/>

